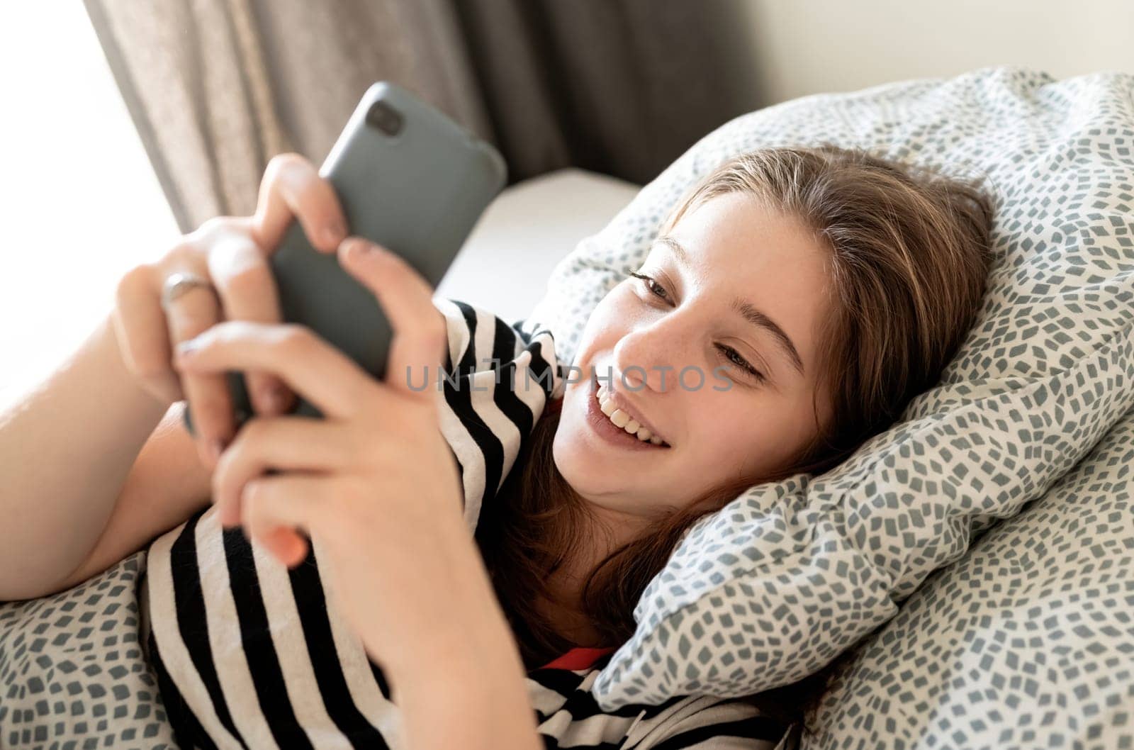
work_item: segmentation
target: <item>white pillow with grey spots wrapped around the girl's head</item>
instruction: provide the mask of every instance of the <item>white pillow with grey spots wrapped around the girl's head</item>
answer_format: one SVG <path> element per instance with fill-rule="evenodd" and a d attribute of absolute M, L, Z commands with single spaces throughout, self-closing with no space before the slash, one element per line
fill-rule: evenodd
<path fill-rule="evenodd" d="M 891 618 L 974 536 L 1041 497 L 1134 402 L 1132 76 L 1017 66 L 814 94 L 737 117 L 555 268 L 525 328 L 564 362 L 683 192 L 720 162 L 830 141 L 970 179 L 996 205 L 985 303 L 940 384 L 821 477 L 701 519 L 592 686 L 604 710 L 796 682 Z"/>

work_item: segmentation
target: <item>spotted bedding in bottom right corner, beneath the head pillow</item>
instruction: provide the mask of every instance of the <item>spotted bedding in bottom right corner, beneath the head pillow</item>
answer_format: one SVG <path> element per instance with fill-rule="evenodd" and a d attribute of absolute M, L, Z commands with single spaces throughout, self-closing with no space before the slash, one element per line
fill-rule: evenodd
<path fill-rule="evenodd" d="M 1134 411 L 839 664 L 802 747 L 1134 747 Z"/>

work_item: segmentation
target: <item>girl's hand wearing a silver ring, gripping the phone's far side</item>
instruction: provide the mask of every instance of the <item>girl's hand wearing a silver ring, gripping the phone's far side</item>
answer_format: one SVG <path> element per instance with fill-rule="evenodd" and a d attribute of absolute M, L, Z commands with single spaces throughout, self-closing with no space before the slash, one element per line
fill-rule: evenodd
<path fill-rule="evenodd" d="M 255 216 L 210 219 L 158 261 L 130 269 L 118 284 L 112 317 L 122 361 L 163 405 L 188 399 L 197 452 L 209 469 L 215 467 L 236 430 L 227 380 L 223 372 L 176 372 L 171 351 L 221 320 L 281 320 L 269 258 L 296 218 L 318 252 L 335 252 L 347 236 L 331 184 L 302 155 L 285 153 L 268 163 Z M 176 272 L 202 276 L 215 292 L 191 288 L 163 310 L 162 286 Z M 279 378 L 248 372 L 247 381 L 256 414 L 282 414 L 291 407 L 291 393 Z"/>

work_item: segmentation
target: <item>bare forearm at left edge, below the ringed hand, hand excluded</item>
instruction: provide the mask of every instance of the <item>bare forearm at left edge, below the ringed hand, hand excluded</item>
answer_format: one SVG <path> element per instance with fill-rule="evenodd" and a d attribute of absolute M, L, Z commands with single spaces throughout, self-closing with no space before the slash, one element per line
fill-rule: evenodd
<path fill-rule="evenodd" d="M 0 600 L 58 590 L 83 563 L 167 408 L 127 371 L 107 317 L 0 413 Z"/>

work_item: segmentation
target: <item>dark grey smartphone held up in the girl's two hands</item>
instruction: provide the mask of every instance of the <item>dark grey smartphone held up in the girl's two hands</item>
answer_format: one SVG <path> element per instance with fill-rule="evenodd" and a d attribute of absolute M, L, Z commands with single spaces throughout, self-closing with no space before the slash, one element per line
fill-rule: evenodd
<path fill-rule="evenodd" d="M 409 262 L 435 289 L 507 166 L 489 143 L 405 89 L 366 90 L 319 174 L 338 194 L 347 230 Z M 302 323 L 378 379 L 386 377 L 392 329 L 372 292 L 307 242 L 293 219 L 270 256 L 286 322 Z M 226 372 L 236 428 L 254 416 L 244 374 Z M 189 408 L 185 428 L 193 435 Z M 290 414 L 322 418 L 296 394 Z"/>

